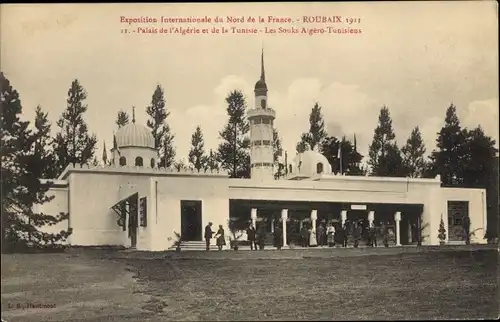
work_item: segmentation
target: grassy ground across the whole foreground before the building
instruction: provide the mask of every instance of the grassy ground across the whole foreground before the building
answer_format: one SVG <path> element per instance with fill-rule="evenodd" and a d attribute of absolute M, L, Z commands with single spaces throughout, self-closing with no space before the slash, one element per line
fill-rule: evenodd
<path fill-rule="evenodd" d="M 8 321 L 498 316 L 496 250 L 376 252 L 3 255 L 2 316 Z M 8 308 L 24 302 L 56 308 Z"/>

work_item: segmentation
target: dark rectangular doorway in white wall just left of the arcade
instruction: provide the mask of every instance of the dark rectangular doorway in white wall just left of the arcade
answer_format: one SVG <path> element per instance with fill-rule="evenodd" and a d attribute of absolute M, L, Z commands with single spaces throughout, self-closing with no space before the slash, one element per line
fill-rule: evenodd
<path fill-rule="evenodd" d="M 183 241 L 202 240 L 201 217 L 201 201 L 181 200 L 181 238 Z"/>

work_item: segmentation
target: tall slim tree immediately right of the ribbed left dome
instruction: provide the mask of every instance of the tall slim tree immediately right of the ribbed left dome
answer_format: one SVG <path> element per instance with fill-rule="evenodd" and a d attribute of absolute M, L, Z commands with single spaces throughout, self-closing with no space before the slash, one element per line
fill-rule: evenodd
<path fill-rule="evenodd" d="M 166 109 L 164 92 L 160 85 L 156 86 L 151 97 L 151 104 L 146 108 L 146 112 L 149 116 L 147 126 L 151 129 L 155 148 L 160 155 L 160 166 L 169 168 L 174 164 L 175 148 L 173 144 L 175 136 L 170 133 L 170 126 L 166 122 L 170 112 Z"/>

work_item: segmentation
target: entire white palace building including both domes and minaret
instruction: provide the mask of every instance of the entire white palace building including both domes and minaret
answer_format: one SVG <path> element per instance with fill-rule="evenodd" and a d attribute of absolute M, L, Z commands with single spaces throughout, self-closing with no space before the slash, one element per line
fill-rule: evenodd
<path fill-rule="evenodd" d="M 255 205 L 239 214 L 254 223 L 266 216 L 266 202 L 274 205 L 278 216 L 273 218 L 282 222 L 284 241 L 287 221 L 294 217 L 294 205 L 300 203 L 302 211 L 310 214 L 313 227 L 322 215 L 323 210 L 317 208 L 321 205 L 337 209 L 333 215 L 342 223 L 354 209 L 361 211 L 370 225 L 390 218 L 395 225 L 396 245 L 405 244 L 401 233 L 406 229 L 404 225 L 418 217 L 420 227 L 425 227 L 423 244 L 437 245 L 441 218 L 448 227 L 450 202 L 461 202 L 466 205 L 471 231 L 479 231 L 471 236 L 471 242 L 486 243 L 484 189 L 441 188 L 439 176 L 412 179 L 333 175 L 328 160 L 317 151 L 297 155 L 286 164 L 288 175 L 274 180 L 275 117 L 275 111 L 267 106 L 262 57 L 261 78 L 255 85 L 255 108 L 248 112 L 251 179 L 230 179 L 223 172 L 158 168 L 153 136 L 149 129 L 135 124 L 134 117 L 131 124 L 116 133 L 110 165 L 68 166 L 52 181 L 48 194 L 55 198 L 35 211 L 69 213 L 69 220 L 46 227 L 46 231 L 72 228 L 67 241 L 71 245 L 123 245 L 161 251 L 172 247 L 176 233 L 186 227 L 183 221 L 192 218 L 198 218 L 188 223 L 194 240 L 202 241 L 203 228 L 209 222 L 214 224 L 214 230 L 222 225 L 229 235 L 230 204 L 235 202 Z M 379 205 L 387 207 L 380 210 Z M 412 209 L 418 213 L 408 210 L 409 206 L 416 206 Z M 447 234 L 446 241 L 448 237 Z"/>

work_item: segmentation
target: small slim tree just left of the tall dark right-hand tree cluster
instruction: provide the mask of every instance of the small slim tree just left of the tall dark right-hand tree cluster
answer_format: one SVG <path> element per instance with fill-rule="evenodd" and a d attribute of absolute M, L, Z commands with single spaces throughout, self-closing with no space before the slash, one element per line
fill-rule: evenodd
<path fill-rule="evenodd" d="M 425 144 L 418 126 L 411 131 L 401 152 L 403 153 L 403 167 L 406 176 L 410 178 L 423 177 L 426 167 Z"/>

